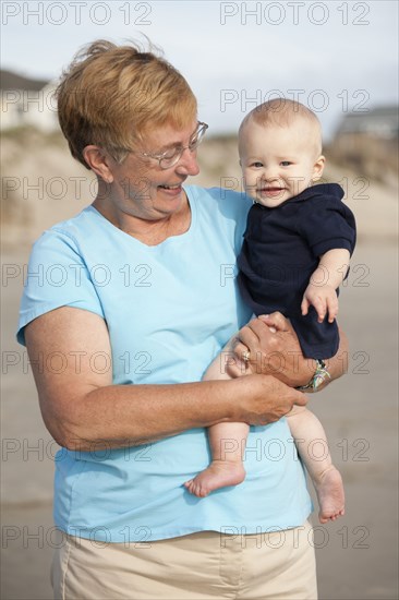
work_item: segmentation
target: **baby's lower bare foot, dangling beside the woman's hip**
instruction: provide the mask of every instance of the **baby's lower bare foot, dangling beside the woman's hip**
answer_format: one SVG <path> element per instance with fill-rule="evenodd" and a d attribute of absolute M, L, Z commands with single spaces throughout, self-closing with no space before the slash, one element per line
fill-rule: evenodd
<path fill-rule="evenodd" d="M 334 466 L 324 471 L 318 481 L 314 481 L 318 499 L 318 520 L 327 523 L 344 515 L 344 493 L 342 478 Z"/>

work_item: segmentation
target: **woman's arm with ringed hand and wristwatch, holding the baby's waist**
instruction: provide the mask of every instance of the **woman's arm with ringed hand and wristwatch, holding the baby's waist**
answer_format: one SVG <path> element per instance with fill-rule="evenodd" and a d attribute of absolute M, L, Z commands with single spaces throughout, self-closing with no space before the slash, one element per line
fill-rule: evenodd
<path fill-rule="evenodd" d="M 274 375 L 292 387 L 306 385 L 316 370 L 315 361 L 303 357 L 291 323 L 279 312 L 250 321 L 240 329 L 233 350 L 241 359 L 250 350 L 250 372 Z M 347 372 L 348 340 L 342 331 L 338 352 L 325 362 L 331 376 L 329 381 Z"/>

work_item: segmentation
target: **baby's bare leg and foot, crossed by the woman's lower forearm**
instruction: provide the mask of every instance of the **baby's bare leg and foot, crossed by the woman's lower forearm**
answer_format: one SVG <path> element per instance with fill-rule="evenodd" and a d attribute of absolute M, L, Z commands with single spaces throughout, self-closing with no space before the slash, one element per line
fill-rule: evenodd
<path fill-rule="evenodd" d="M 234 369 L 237 374 L 245 374 L 243 363 L 229 363 L 229 355 L 219 355 L 206 371 L 203 381 L 230 380 L 228 371 L 231 372 L 231 369 Z M 246 423 L 218 423 L 208 428 L 211 463 L 194 479 L 184 483 L 189 492 L 203 497 L 220 488 L 242 483 L 245 479 L 242 456 L 249 431 L 250 427 Z"/>

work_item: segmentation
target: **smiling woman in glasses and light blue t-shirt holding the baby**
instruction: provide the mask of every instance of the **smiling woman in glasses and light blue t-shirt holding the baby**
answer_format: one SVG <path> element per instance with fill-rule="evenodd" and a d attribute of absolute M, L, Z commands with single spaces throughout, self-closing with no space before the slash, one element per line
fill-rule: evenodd
<path fill-rule="evenodd" d="M 280 420 L 305 404 L 293 386 L 312 373 L 281 315 L 244 326 L 231 273 L 249 200 L 182 187 L 198 173 L 206 124 L 185 80 L 154 53 L 94 43 L 58 98 L 98 194 L 36 242 L 29 272 L 62 277 L 31 278 L 21 309 L 19 339 L 63 446 L 56 598 L 314 599 L 311 502 Z M 234 349 L 257 373 L 201 382 L 240 327 L 221 368 L 234 368 Z M 339 361 L 329 367 L 339 376 Z M 254 425 L 247 479 L 195 499 L 183 483 L 208 464 L 204 428 L 230 420 Z"/>

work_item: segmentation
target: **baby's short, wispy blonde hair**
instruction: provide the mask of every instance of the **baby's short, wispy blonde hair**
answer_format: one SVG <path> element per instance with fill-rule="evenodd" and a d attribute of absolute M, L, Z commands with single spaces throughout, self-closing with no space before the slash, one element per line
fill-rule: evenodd
<path fill-rule="evenodd" d="M 309 133 L 315 140 L 316 154 L 322 154 L 322 125 L 316 115 L 306 106 L 288 98 L 274 98 L 256 106 L 243 119 L 240 129 L 239 137 L 250 122 L 257 123 L 262 127 L 281 127 L 287 128 L 302 119 L 309 125 Z"/>

